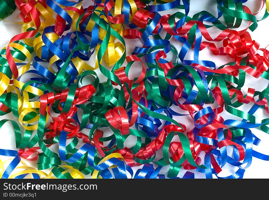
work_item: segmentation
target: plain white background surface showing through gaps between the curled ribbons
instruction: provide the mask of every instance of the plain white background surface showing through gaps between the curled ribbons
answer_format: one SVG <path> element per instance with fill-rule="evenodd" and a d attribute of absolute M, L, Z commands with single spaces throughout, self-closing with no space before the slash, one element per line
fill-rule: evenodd
<path fill-rule="evenodd" d="M 203 2 L 203 3 L 201 3 L 201 2 Z M 191 8 L 190 8 L 191 11 L 190 11 L 189 15 L 191 16 L 193 13 L 197 13 L 203 9 L 211 11 L 211 13 L 216 15 L 216 3 L 212 3 L 212 2 L 215 2 L 215 1 L 213 1 L 213 0 L 206 0 L 206 1 L 191 0 Z M 259 10 L 261 2 L 262 1 L 258 1 L 258 0 L 249 0 L 246 5 L 248 5 L 249 8 L 254 13 L 254 12 L 257 12 Z M 83 5 L 85 5 L 85 4 L 83 3 Z M 171 11 L 171 10 L 169 11 L 169 13 L 172 13 L 172 12 L 173 11 Z M 161 14 L 164 14 L 164 13 L 161 13 Z M 167 13 L 165 13 L 165 14 L 167 14 Z M 19 11 L 18 11 L 18 9 L 16 9 L 15 13 L 13 13 L 13 15 L 6 18 L 6 20 L 12 21 L 12 22 L 18 22 L 18 21 L 20 21 L 18 15 L 19 15 Z M 252 36 L 252 40 L 256 40 L 260 44 L 260 47 L 262 47 L 262 48 L 265 48 L 269 44 L 269 38 L 268 38 L 268 33 L 267 33 L 268 22 L 269 22 L 269 18 L 259 22 L 258 28 L 253 33 L 251 31 L 249 31 L 251 36 Z M 246 26 L 246 24 L 247 23 L 244 22 L 238 30 L 243 29 L 244 26 Z M 0 31 L 0 38 L 1 38 L 0 48 L 4 47 L 6 44 L 8 44 L 9 40 L 14 35 L 19 34 L 21 32 L 21 26 L 22 26 L 21 24 L 12 24 L 12 23 L 6 23 L 3 21 L 0 21 L 0 30 L 1 30 Z M 210 34 L 212 35 L 212 38 L 216 37 L 216 35 L 219 34 L 219 30 L 214 29 L 214 28 L 211 28 L 209 31 L 210 31 Z M 142 41 L 140 39 L 135 39 L 135 40 L 125 39 L 125 41 L 127 44 L 127 55 L 130 55 L 131 51 L 133 50 L 133 49 L 130 49 L 128 47 L 133 48 L 134 46 L 142 46 Z M 181 46 L 181 44 L 175 44 L 175 43 L 173 43 L 173 44 L 176 45 L 178 48 L 180 48 L 180 46 Z M 190 59 L 192 58 L 192 50 L 190 50 L 188 52 L 187 57 Z M 214 55 L 212 55 L 212 53 L 210 53 L 208 48 L 206 48 L 200 52 L 200 59 L 201 58 L 203 60 L 214 61 L 217 64 L 217 66 L 220 66 L 221 64 L 225 64 L 229 61 L 228 56 L 214 56 Z M 97 69 L 96 72 L 98 73 L 98 75 L 100 75 L 99 76 L 100 82 L 105 81 L 105 77 L 103 75 L 101 75 L 99 69 Z M 256 88 L 259 91 L 262 91 L 264 88 L 266 88 L 267 84 L 268 84 L 267 80 L 265 80 L 263 78 L 259 78 L 257 80 L 256 78 L 253 78 L 247 74 L 246 83 L 245 83 L 242 91 L 246 92 L 248 87 Z M 249 108 L 250 107 L 246 107 L 247 110 L 249 110 Z M 225 112 L 226 111 L 223 111 L 223 114 L 222 114 L 224 119 L 234 118 L 232 115 L 227 114 Z M 256 116 L 257 122 L 260 122 L 263 118 L 268 118 L 268 114 L 266 114 L 266 112 L 262 111 L 261 109 L 259 109 L 254 115 Z M 13 120 L 18 122 L 18 120 L 12 114 L 0 116 L 0 119 L 4 119 L 4 118 L 13 119 Z M 193 124 L 191 124 L 190 120 L 187 119 L 186 117 L 178 117 L 176 119 L 180 120 L 180 122 L 182 122 L 182 123 L 185 123 L 189 129 L 191 129 L 193 127 Z M 252 132 L 258 138 L 261 139 L 259 146 L 254 145 L 253 149 L 255 151 L 269 155 L 269 148 L 268 148 L 269 135 L 263 133 L 262 131 L 260 131 L 260 129 L 252 129 Z M 133 143 L 133 142 L 128 141 L 127 143 L 129 144 L 129 143 Z M 125 144 L 128 145 L 127 143 L 125 143 Z M 53 146 L 57 146 L 57 145 L 53 145 Z M 0 148 L 2 148 L 2 149 L 14 149 L 14 150 L 16 149 L 13 128 L 11 128 L 9 123 L 6 123 L 2 127 L 2 129 L 0 130 Z M 7 157 L 0 156 L 0 159 L 2 159 L 2 161 L 3 161 L 3 160 L 6 160 Z M 28 163 L 29 166 L 35 167 L 36 162 L 26 161 L 26 163 Z M 141 168 L 141 167 L 138 167 L 138 168 Z M 247 168 L 245 171 L 244 178 L 269 178 L 269 173 L 267 173 L 268 168 L 269 168 L 268 161 L 262 161 L 258 158 L 253 158 L 251 166 L 249 168 Z M 137 167 L 133 168 L 133 169 L 137 169 Z M 169 169 L 168 167 L 164 167 L 161 170 L 161 173 L 166 173 L 168 169 Z M 45 171 L 49 172 L 50 169 L 45 170 Z M 186 170 L 182 169 L 178 176 L 182 177 L 184 175 L 185 171 Z M 195 170 L 190 170 L 190 171 L 194 172 Z M 235 168 L 229 167 L 227 164 L 225 166 L 223 172 L 221 172 L 219 174 L 219 176 L 228 176 L 235 171 L 236 171 Z M 196 173 L 195 177 L 196 178 L 205 178 L 205 175 L 202 173 Z M 214 176 L 214 178 L 216 178 L 216 177 Z"/>

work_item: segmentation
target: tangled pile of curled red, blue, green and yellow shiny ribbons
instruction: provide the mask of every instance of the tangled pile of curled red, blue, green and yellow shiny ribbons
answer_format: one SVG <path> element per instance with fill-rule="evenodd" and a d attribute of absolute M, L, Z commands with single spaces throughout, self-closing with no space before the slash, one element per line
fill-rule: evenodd
<path fill-rule="evenodd" d="M 246 73 L 269 80 L 269 51 L 248 32 L 269 15 L 267 1 L 259 19 L 247 0 L 213 1 L 217 16 L 190 16 L 190 0 L 85 2 L 0 0 L 2 20 L 15 9 L 22 20 L 0 57 L 0 128 L 13 126 L 17 148 L 0 149 L 0 177 L 242 178 L 252 157 L 269 160 L 252 149 L 260 142 L 252 130 L 269 133 L 269 118 L 255 118 L 269 114 L 269 87 L 241 91 Z M 201 60 L 205 48 L 233 61 Z M 225 165 L 237 170 L 220 176 Z"/>

